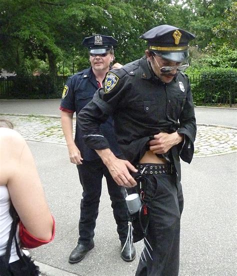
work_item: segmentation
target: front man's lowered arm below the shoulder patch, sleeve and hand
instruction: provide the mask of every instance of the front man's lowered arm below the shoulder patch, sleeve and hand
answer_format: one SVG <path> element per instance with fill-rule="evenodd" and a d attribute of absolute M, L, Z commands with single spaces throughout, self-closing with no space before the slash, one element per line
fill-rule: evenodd
<path fill-rule="evenodd" d="M 85 144 L 94 149 L 108 168 L 113 180 L 120 186 L 132 187 L 136 185 L 135 180 L 129 174 L 129 170 L 137 172 L 135 167 L 127 160 L 118 159 L 109 149 L 107 139 L 100 131 L 100 124 L 105 122 L 112 110 L 104 102 L 97 90 L 93 99 L 81 109 L 77 115 L 77 124 L 83 133 Z"/>

